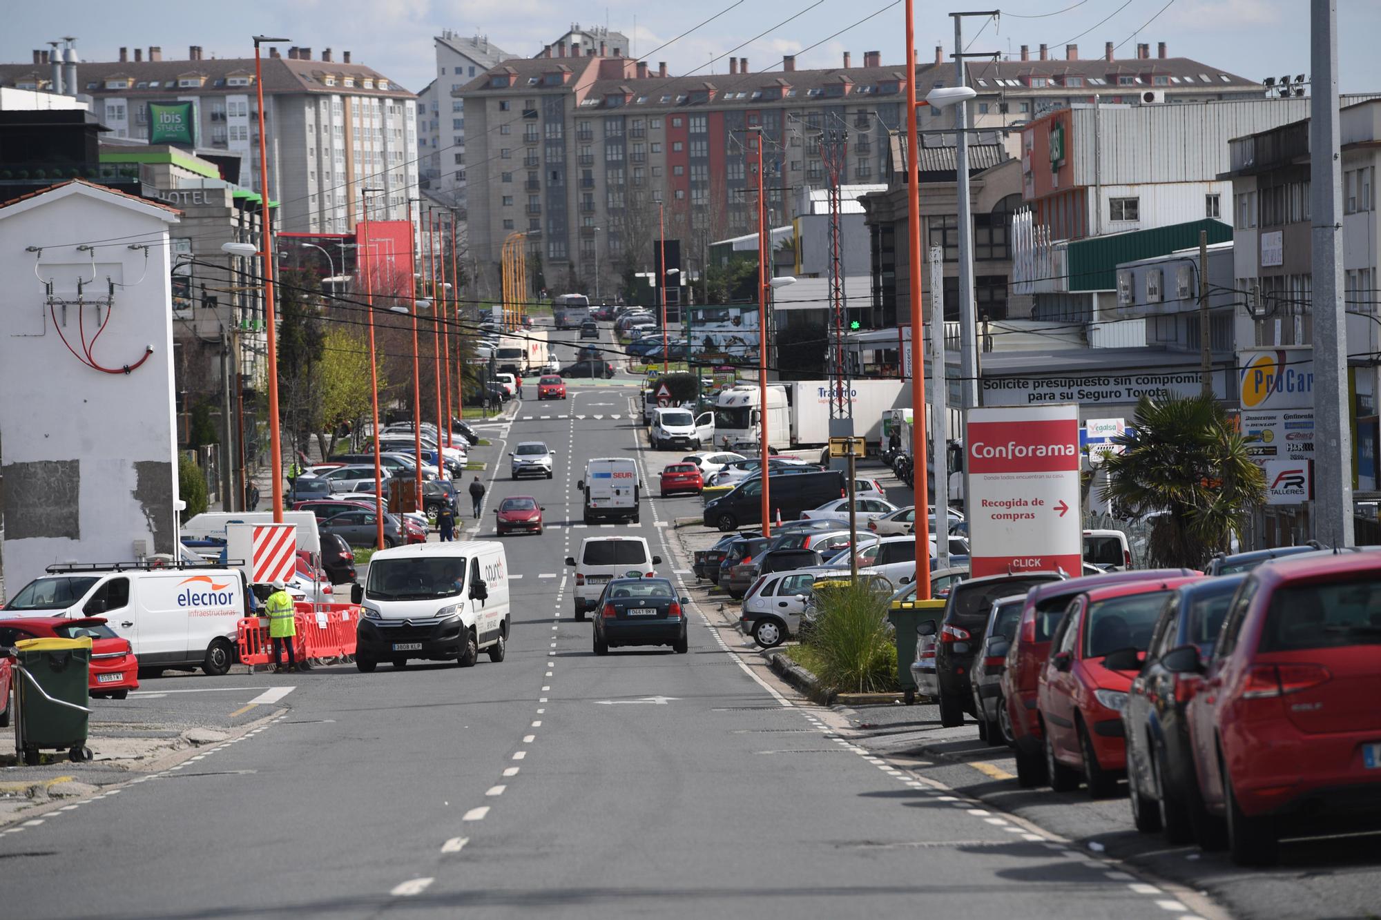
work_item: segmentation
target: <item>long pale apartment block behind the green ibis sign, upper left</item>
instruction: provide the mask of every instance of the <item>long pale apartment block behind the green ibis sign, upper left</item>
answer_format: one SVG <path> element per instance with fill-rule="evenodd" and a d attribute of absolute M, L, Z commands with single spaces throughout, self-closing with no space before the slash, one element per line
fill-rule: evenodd
<path fill-rule="evenodd" d="M 47 88 L 35 64 L 0 65 L 0 86 Z M 191 46 L 185 59 L 164 59 L 159 46 L 120 48 L 117 61 L 76 65 L 76 91 L 93 99 L 97 117 L 116 138 L 148 138 L 149 102 L 191 102 L 195 146 L 240 155 L 242 175 L 226 177 L 260 189 L 258 106 L 253 58 L 206 58 Z M 264 119 L 269 138 L 271 199 L 279 228 L 345 232 L 365 220 L 400 220 L 417 188 L 417 101 L 387 76 L 330 48 L 268 48 L 262 59 Z M 70 90 L 70 87 L 69 87 Z"/>

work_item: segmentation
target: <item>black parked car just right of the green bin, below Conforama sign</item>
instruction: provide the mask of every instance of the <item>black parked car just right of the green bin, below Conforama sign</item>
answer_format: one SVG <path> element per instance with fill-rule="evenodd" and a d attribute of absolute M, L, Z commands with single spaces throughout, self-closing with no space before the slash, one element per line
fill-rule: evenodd
<path fill-rule="evenodd" d="M 950 587 L 940 620 L 939 645 L 935 651 L 935 673 L 939 678 L 940 725 L 954 728 L 964 724 L 964 713 L 974 706 L 969 670 L 978 653 L 978 640 L 987 624 L 993 601 L 1012 594 L 1025 594 L 1037 584 L 1062 582 L 1058 572 L 1026 572 L 1023 575 L 989 575 L 957 582 Z M 975 713 L 969 713 L 971 716 Z"/>

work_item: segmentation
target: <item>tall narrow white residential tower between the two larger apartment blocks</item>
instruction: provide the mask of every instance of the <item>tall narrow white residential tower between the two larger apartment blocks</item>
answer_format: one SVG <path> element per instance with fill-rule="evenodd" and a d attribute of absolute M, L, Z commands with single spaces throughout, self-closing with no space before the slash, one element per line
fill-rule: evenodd
<path fill-rule="evenodd" d="M 453 94 L 514 55 L 487 35 L 443 29 L 434 39 L 436 79 L 417 94 L 417 155 L 421 186 L 432 200 L 465 209 L 465 102 Z"/>

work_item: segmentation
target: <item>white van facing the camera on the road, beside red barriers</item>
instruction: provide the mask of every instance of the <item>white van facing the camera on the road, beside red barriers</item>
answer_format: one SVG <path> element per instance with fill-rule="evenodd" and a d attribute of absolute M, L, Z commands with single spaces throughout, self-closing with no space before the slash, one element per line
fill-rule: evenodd
<path fill-rule="evenodd" d="M 471 667 L 479 649 L 490 662 L 508 648 L 508 558 L 494 540 L 414 543 L 380 550 L 369 580 L 355 586 L 360 605 L 355 664 L 406 667 L 409 659 L 456 660 Z"/>

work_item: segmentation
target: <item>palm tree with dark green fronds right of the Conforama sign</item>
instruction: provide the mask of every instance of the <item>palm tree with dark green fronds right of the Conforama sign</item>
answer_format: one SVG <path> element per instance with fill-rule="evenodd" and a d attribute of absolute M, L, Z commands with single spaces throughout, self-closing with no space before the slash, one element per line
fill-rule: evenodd
<path fill-rule="evenodd" d="M 1113 441 L 1103 499 L 1124 514 L 1155 515 L 1150 565 L 1201 569 L 1266 496 L 1261 467 L 1211 396 L 1152 399 L 1137 405 L 1134 428 Z"/>

